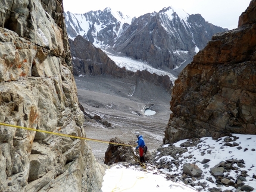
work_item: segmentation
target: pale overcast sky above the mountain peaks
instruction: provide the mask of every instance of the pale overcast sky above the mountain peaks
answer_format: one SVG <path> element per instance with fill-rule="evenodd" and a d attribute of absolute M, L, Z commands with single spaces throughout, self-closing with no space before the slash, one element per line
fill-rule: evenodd
<path fill-rule="evenodd" d="M 63 5 L 64 11 L 73 13 L 103 11 L 104 8 L 110 7 L 132 18 L 173 6 L 182 8 L 188 14 L 199 13 L 209 23 L 230 30 L 238 26 L 238 18 L 249 2 L 251 0 L 63 0 Z"/>

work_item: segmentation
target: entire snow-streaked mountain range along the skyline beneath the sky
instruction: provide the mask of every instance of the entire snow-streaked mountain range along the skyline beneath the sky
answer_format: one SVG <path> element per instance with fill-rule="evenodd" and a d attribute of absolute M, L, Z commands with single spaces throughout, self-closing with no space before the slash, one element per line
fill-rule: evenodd
<path fill-rule="evenodd" d="M 208 23 L 200 14 L 189 15 L 173 7 L 139 18 L 111 8 L 85 14 L 65 12 L 65 23 L 70 39 L 80 34 L 99 48 L 112 48 L 166 71 L 192 61 L 213 34 L 227 30 Z"/>

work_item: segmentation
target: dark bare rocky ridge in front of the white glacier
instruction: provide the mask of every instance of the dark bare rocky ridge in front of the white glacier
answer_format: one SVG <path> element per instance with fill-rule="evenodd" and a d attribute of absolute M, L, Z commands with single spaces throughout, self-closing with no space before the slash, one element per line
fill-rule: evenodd
<path fill-rule="evenodd" d="M 130 77 L 138 83 L 146 81 L 157 86 L 163 86 L 170 92 L 173 84 L 168 75 L 151 74 L 146 70 L 132 71 L 126 70 L 125 67 L 118 67 L 106 53 L 101 49 L 95 48 L 92 43 L 77 36 L 73 41 L 70 40 L 70 50 L 72 55 L 74 75 L 111 75 L 115 78 Z"/>

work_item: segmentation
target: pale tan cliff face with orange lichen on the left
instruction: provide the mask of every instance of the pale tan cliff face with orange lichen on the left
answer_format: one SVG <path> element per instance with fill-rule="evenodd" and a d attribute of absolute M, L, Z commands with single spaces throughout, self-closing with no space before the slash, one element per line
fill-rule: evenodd
<path fill-rule="evenodd" d="M 85 137 L 62 1 L 0 2 L 0 122 Z M 0 191 L 100 191 L 85 140 L 0 125 Z"/>

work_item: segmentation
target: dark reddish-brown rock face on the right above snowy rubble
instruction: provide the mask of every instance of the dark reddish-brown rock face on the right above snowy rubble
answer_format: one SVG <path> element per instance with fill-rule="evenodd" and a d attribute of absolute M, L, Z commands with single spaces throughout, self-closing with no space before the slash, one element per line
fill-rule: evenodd
<path fill-rule="evenodd" d="M 180 73 L 165 143 L 229 133 L 256 134 L 256 1 L 238 29 L 218 33 Z"/>

